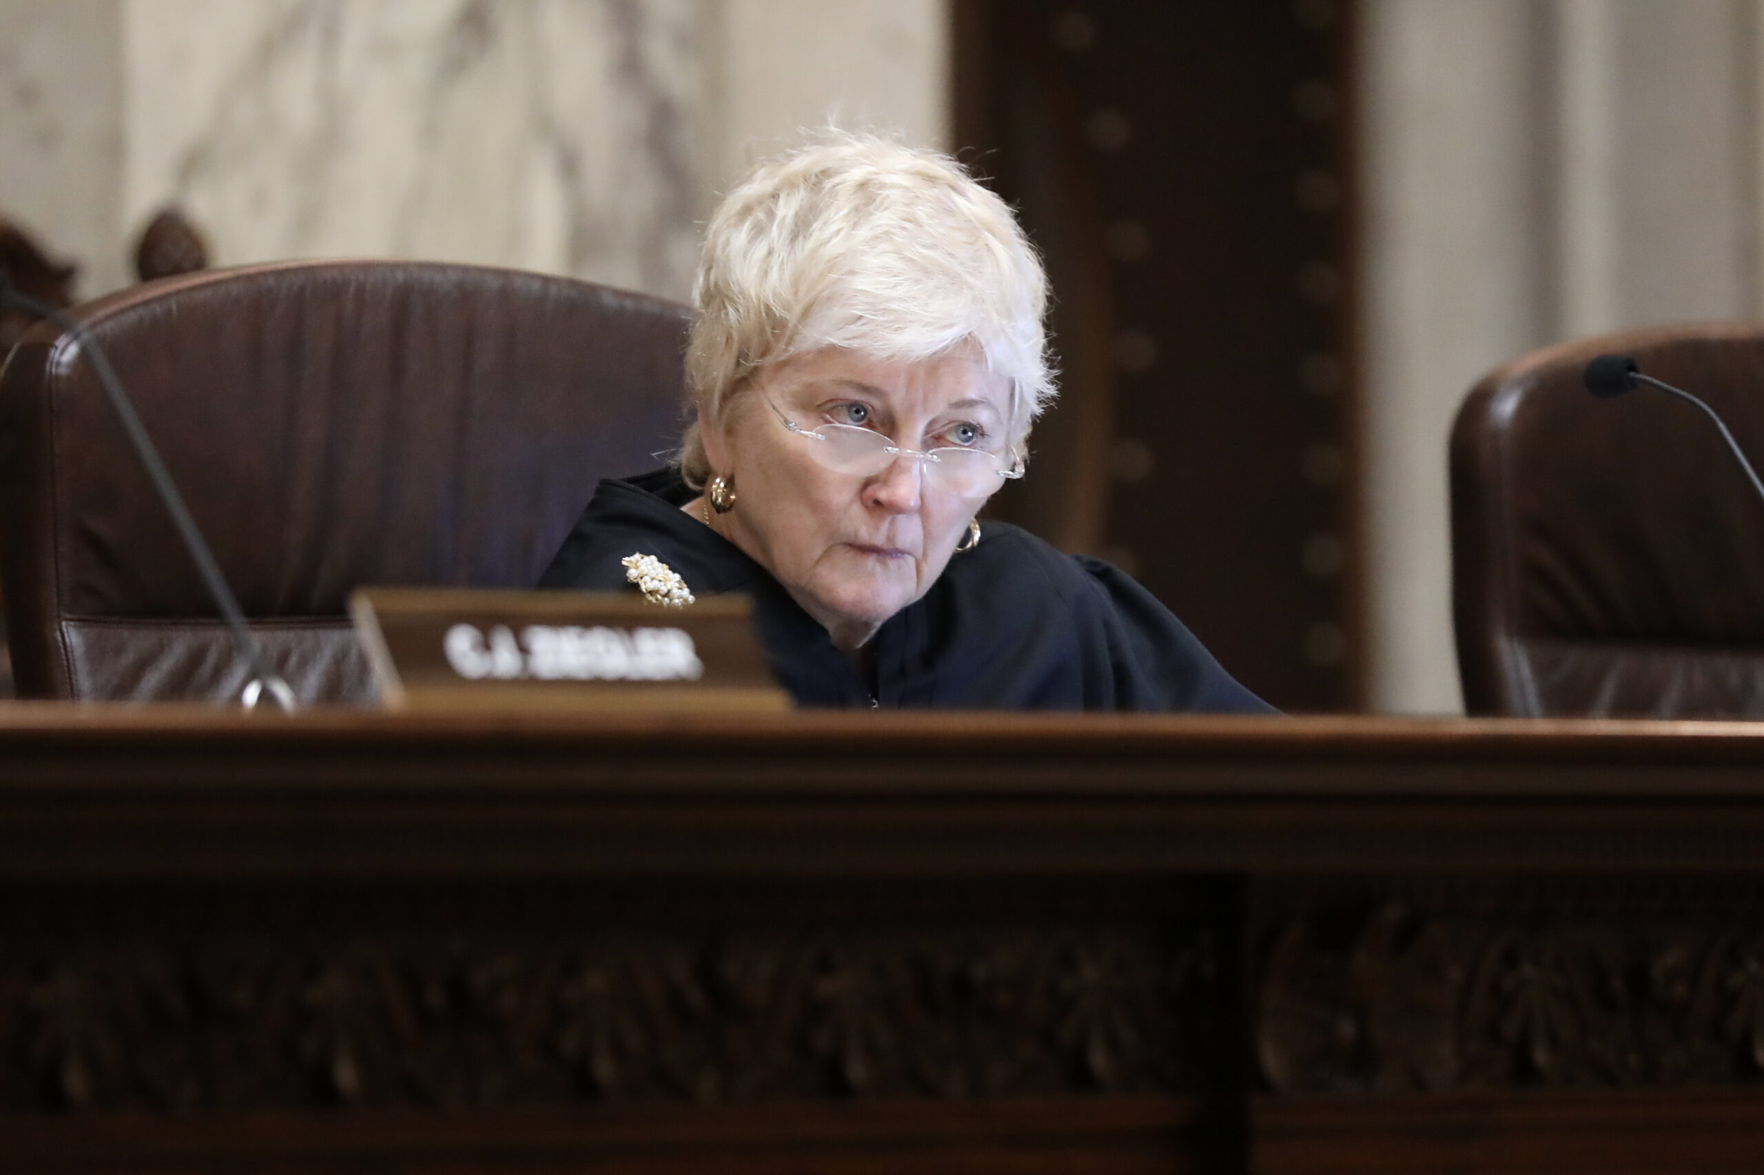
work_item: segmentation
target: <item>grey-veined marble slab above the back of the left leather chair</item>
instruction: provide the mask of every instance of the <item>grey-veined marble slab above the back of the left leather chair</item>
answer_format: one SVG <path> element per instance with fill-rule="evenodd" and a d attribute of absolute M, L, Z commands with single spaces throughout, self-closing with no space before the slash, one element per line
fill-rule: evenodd
<path fill-rule="evenodd" d="M 175 11 L 176 19 L 166 19 Z M 695 0 L 123 0 L 123 219 L 681 295 Z"/>

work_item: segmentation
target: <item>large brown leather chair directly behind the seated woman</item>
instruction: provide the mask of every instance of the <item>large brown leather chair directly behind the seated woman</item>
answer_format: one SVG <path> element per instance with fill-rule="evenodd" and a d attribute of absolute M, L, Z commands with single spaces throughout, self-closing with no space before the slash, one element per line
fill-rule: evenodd
<path fill-rule="evenodd" d="M 563 277 L 259 265 L 74 314 L 303 702 L 372 699 L 353 588 L 527 588 L 596 480 L 654 468 L 681 429 L 688 311 Z M 0 501 L 23 697 L 238 695 L 164 506 L 48 325 L 0 374 Z"/>

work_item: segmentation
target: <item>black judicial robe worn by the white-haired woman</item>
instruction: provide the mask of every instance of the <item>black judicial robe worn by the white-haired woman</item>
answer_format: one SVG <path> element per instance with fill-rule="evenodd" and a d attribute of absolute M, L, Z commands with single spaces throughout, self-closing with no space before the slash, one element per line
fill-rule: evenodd
<path fill-rule="evenodd" d="M 799 706 L 1272 713 L 1120 570 L 1004 522 L 877 630 L 864 681 L 766 568 L 681 512 L 691 498 L 674 469 L 602 482 L 540 588 L 635 591 L 621 559 L 647 554 L 697 596 L 744 593 Z"/>

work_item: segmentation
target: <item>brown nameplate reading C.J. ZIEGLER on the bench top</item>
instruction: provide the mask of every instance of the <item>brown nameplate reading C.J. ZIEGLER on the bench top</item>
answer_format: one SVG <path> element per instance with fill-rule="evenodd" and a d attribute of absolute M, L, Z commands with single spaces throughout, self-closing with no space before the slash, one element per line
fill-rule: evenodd
<path fill-rule="evenodd" d="M 780 711 L 746 596 L 362 588 L 355 632 L 388 709 Z"/>

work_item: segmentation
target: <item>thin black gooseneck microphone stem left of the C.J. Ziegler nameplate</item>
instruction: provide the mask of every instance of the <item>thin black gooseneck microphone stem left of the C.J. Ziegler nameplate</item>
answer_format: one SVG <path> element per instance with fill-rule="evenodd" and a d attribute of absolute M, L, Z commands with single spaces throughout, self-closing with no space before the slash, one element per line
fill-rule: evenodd
<path fill-rule="evenodd" d="M 109 397 L 111 408 L 116 411 L 116 418 L 129 436 L 129 445 L 134 448 L 134 455 L 141 460 L 146 478 L 153 483 L 153 492 L 159 494 L 166 513 L 171 515 L 171 522 L 178 528 L 178 536 L 183 538 L 185 550 L 191 552 L 203 584 L 208 586 L 208 595 L 213 596 L 215 607 L 220 609 L 220 616 L 233 633 L 233 646 L 238 649 L 240 660 L 250 667 L 252 677 L 245 685 L 240 702 L 243 702 L 245 709 L 254 709 L 258 700 L 268 693 L 284 711 L 293 713 L 295 692 L 265 665 L 263 649 L 258 646 L 258 637 L 250 632 L 250 625 L 245 623 L 245 612 L 238 607 L 238 598 L 228 588 L 226 577 L 220 573 L 220 565 L 215 563 L 213 552 L 208 550 L 203 533 L 196 529 L 196 519 L 191 517 L 189 508 L 183 505 L 183 494 L 178 492 L 176 483 L 171 480 L 166 462 L 159 459 L 159 450 L 153 448 L 153 441 L 146 436 L 141 418 L 134 413 L 134 404 L 129 402 L 129 395 L 122 390 L 122 381 L 109 363 L 109 356 L 104 355 L 104 348 L 72 316 L 48 302 L 39 302 L 19 293 L 5 272 L 0 272 L 0 307 L 12 307 L 34 318 L 46 318 L 60 326 L 64 333 L 72 335 L 79 355 L 85 356 L 92 372 L 99 378 L 104 395 Z"/>

